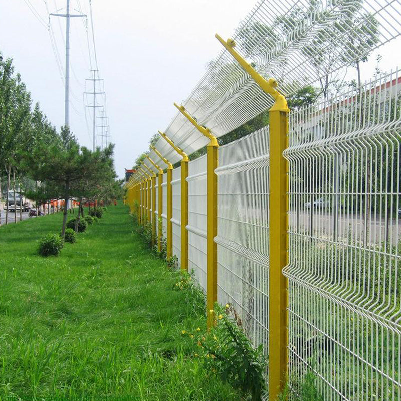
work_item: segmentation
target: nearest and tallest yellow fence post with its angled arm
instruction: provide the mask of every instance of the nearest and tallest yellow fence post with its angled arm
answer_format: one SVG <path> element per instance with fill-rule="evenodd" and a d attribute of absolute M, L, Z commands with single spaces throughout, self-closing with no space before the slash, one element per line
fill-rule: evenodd
<path fill-rule="evenodd" d="M 275 102 L 269 110 L 269 400 L 275 401 L 285 386 L 288 363 L 288 283 L 283 268 L 288 264 L 288 163 L 283 157 L 288 147 L 288 105 L 277 91 L 274 79 L 266 80 L 234 50 L 232 39 L 216 38 L 241 67 Z"/>

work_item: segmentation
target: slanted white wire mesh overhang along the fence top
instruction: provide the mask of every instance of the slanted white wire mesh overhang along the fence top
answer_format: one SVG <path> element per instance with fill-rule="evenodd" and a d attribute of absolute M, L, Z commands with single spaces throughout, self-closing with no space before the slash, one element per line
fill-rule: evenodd
<path fill-rule="evenodd" d="M 328 82 L 341 68 L 362 61 L 400 31 L 399 0 L 263 0 L 233 38 L 236 50 L 261 75 L 275 78 L 284 94 L 316 84 L 327 95 Z M 200 124 L 221 136 L 266 110 L 272 99 L 222 51 L 183 104 Z M 207 143 L 180 113 L 165 132 L 188 154 Z M 156 147 L 171 162 L 179 160 L 165 141 Z"/>

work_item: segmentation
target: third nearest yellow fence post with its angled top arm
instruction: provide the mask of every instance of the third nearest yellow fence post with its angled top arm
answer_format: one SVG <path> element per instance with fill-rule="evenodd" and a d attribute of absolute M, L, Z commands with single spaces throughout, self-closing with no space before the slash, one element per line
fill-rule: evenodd
<path fill-rule="evenodd" d="M 188 271 L 188 155 L 174 142 L 167 137 L 164 132 L 159 134 L 168 142 L 170 146 L 182 157 L 181 160 L 181 270 Z"/>

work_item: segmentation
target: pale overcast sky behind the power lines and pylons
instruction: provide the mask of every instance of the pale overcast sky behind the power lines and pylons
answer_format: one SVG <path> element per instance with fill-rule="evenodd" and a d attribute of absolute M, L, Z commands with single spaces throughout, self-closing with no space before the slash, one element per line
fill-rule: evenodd
<path fill-rule="evenodd" d="M 137 155 L 146 150 L 157 129 L 167 127 L 175 114 L 173 102 L 187 97 L 206 63 L 221 50 L 214 34 L 229 37 L 255 2 L 92 0 L 98 68 L 107 94 L 119 176 L 123 176 L 124 167 L 131 168 Z M 13 57 L 34 102 L 40 102 L 49 120 L 60 127 L 64 124 L 61 73 L 64 73 L 65 19 L 51 17 L 51 32 L 57 44 L 53 48 L 47 29 L 46 4 L 49 12 L 65 12 L 66 0 L 0 2 L 0 51 L 4 57 Z M 74 13 L 82 10 L 89 14 L 89 0 L 71 0 L 71 9 Z M 83 101 L 85 78 L 91 78 L 85 25 L 86 19 L 72 19 L 70 127 L 81 145 L 92 147 L 91 111 L 87 109 L 85 113 Z M 89 32 L 90 28 L 89 25 Z M 379 50 L 383 56 L 382 69 L 389 71 L 399 64 L 400 46 L 401 41 L 397 40 Z M 90 47 L 93 48 L 92 44 Z M 61 73 L 54 52 L 59 52 Z M 363 79 L 369 79 L 374 72 L 375 54 L 362 67 Z M 93 51 L 91 59 L 95 68 Z M 88 82 L 86 85 L 90 91 Z M 98 102 L 101 101 L 99 97 Z"/>

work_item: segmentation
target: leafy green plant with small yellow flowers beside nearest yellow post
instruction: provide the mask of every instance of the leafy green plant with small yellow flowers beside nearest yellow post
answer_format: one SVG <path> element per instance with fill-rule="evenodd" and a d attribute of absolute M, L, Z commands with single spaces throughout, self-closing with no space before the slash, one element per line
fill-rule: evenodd
<path fill-rule="evenodd" d="M 241 320 L 229 304 L 215 305 L 216 325 L 205 336 L 195 338 L 206 369 L 219 374 L 252 401 L 261 401 L 265 386 L 266 361 L 262 346 L 255 348 L 241 328 Z M 231 316 L 230 316 L 231 315 Z"/>

